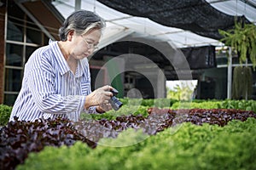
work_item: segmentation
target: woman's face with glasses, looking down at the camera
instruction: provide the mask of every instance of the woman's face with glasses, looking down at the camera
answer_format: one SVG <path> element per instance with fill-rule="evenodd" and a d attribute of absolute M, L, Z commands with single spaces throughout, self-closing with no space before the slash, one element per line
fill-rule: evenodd
<path fill-rule="evenodd" d="M 74 37 L 74 46 L 71 55 L 74 59 L 84 59 L 90 56 L 96 48 L 102 32 L 100 30 L 93 30 L 84 35 L 76 35 Z"/>

